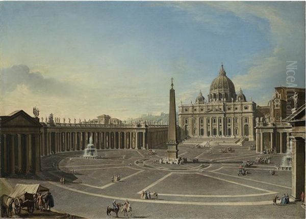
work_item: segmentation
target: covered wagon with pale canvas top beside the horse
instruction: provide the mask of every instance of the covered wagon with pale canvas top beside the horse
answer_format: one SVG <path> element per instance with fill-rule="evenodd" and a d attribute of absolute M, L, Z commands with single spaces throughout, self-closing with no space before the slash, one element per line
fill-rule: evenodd
<path fill-rule="evenodd" d="M 47 193 L 49 189 L 40 184 L 16 184 L 10 197 L 15 202 L 15 213 L 20 214 L 21 209 L 27 208 L 29 213 L 35 209 L 34 194 Z"/>

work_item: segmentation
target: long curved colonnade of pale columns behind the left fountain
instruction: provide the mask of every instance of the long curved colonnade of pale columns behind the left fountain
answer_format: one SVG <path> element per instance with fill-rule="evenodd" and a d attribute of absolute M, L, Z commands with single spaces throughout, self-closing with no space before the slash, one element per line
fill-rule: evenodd
<path fill-rule="evenodd" d="M 167 129 L 141 131 L 59 131 L 45 129 L 40 135 L 41 155 L 84 150 L 92 136 L 97 149 L 149 149 L 166 143 Z"/>

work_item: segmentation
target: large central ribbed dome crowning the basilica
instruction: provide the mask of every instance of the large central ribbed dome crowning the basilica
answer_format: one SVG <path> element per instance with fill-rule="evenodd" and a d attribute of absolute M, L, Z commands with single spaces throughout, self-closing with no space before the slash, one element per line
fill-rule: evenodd
<path fill-rule="evenodd" d="M 217 94 L 219 98 L 217 98 Z M 235 98 L 236 96 L 234 83 L 226 76 L 223 65 L 221 65 L 219 76 L 216 77 L 211 83 L 210 95 L 212 99 L 217 98 L 219 100 L 221 99 L 221 96 L 224 96 L 226 101 L 230 101 L 231 98 Z"/>

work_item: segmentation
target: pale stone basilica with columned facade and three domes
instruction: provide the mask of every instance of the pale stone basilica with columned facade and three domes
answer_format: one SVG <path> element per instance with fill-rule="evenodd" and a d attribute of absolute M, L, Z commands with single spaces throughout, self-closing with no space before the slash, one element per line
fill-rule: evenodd
<path fill-rule="evenodd" d="M 218 77 L 210 86 L 208 98 L 201 91 L 194 104 L 179 106 L 179 126 L 182 139 L 186 137 L 244 137 L 254 140 L 256 103 L 247 101 L 240 88 L 221 66 Z"/>

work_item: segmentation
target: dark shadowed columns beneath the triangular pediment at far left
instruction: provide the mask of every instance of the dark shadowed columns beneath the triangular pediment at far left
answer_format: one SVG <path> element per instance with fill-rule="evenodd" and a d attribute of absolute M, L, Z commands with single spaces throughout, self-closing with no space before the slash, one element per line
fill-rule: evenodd
<path fill-rule="evenodd" d="M 39 135 L 2 134 L 1 151 L 4 174 L 29 173 L 40 170 Z"/>

